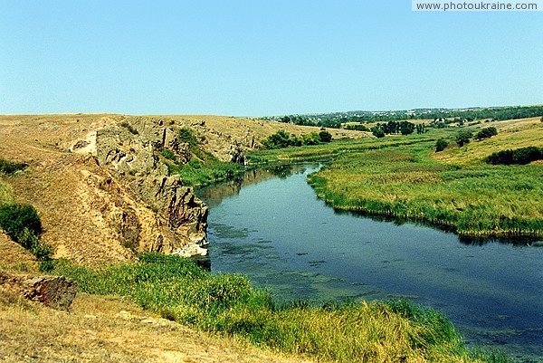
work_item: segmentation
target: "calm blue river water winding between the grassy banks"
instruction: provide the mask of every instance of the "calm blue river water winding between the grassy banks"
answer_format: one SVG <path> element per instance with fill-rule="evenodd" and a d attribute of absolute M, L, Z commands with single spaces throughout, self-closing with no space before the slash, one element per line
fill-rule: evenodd
<path fill-rule="evenodd" d="M 543 361 L 543 247 L 467 243 L 413 223 L 337 213 L 275 167 L 200 191 L 212 272 L 239 272 L 278 301 L 404 298 L 443 311 L 468 345 Z"/>

